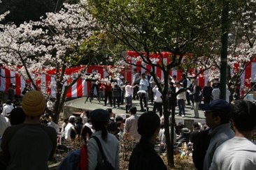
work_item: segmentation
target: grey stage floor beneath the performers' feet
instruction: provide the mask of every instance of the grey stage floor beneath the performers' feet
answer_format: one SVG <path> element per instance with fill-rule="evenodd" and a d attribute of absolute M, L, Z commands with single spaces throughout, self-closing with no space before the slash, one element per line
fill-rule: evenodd
<path fill-rule="evenodd" d="M 64 109 L 64 117 L 69 116 L 69 115 L 73 114 L 74 112 L 79 112 L 82 110 L 92 111 L 94 109 L 99 109 L 99 108 L 101 108 L 101 109 L 111 108 L 112 109 L 111 105 L 109 105 L 109 104 L 107 104 L 107 106 L 103 106 L 104 101 L 99 102 L 99 100 L 94 98 L 94 100 L 92 100 L 92 102 L 90 102 L 89 99 L 87 100 L 87 102 L 85 102 L 86 99 L 87 99 L 87 97 L 83 97 L 83 98 L 77 98 L 75 100 L 70 100 L 68 102 L 65 102 L 64 108 L 66 108 L 66 109 Z M 133 106 L 137 107 L 137 110 L 141 109 L 138 100 L 133 100 L 132 103 L 133 103 Z M 153 108 L 153 106 L 149 105 L 149 111 L 152 111 L 152 108 Z M 182 118 L 181 116 L 176 116 L 176 123 L 183 122 L 183 124 L 186 124 L 186 122 L 190 122 L 190 124 L 191 124 L 194 121 L 197 121 L 197 122 L 204 124 L 205 117 L 204 117 L 203 111 L 199 110 L 199 118 L 193 118 L 194 110 L 191 110 L 190 108 L 191 108 L 191 106 L 186 105 L 185 118 Z M 120 109 L 113 108 L 113 113 L 115 115 L 119 114 L 122 116 L 129 117 L 129 114 L 125 113 L 125 105 L 120 105 Z M 137 111 L 137 114 L 141 115 L 141 114 L 143 114 L 143 112 Z M 159 114 L 159 112 L 157 112 L 157 114 Z M 176 114 L 178 114 L 178 107 L 176 107 Z"/>

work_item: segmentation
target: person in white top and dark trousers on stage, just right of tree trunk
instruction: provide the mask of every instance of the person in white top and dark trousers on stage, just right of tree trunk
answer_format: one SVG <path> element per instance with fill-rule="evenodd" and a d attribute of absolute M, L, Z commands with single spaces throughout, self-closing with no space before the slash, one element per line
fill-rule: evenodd
<path fill-rule="evenodd" d="M 176 81 L 175 84 L 176 84 L 176 93 L 177 93 L 183 87 L 180 86 L 180 82 L 178 82 L 178 81 Z M 185 117 L 185 101 L 186 101 L 186 93 L 185 93 L 185 91 L 183 91 L 177 95 L 178 114 L 176 114 L 176 116 L 182 115 L 183 118 Z"/>

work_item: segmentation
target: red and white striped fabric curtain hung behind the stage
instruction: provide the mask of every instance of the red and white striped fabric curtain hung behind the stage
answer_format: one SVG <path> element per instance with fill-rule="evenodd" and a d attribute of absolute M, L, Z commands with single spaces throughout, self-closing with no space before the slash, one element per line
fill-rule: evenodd
<path fill-rule="evenodd" d="M 138 56 L 138 54 L 136 54 L 136 52 L 127 52 L 127 56 L 132 57 L 136 57 Z M 164 56 L 164 64 L 169 63 L 170 59 L 169 59 L 169 53 L 163 53 Z M 152 58 L 157 58 L 158 56 L 152 55 Z M 129 60 L 129 62 L 133 62 L 135 63 L 135 61 Z M 161 61 L 155 61 L 160 63 Z M 143 64 L 141 63 L 141 61 L 138 61 L 137 64 Z M 146 68 L 148 68 L 149 70 L 152 70 L 152 66 L 151 65 L 145 65 Z M 74 72 L 78 72 L 79 70 L 85 68 L 84 66 L 81 67 L 74 67 L 74 68 L 69 68 L 66 70 L 65 74 L 66 75 L 70 75 Z M 101 74 L 101 78 L 105 78 L 108 77 L 108 68 L 113 68 L 113 66 L 109 66 L 109 65 L 99 65 L 99 66 L 90 66 L 89 68 L 87 68 L 87 73 L 92 73 L 92 70 L 97 69 L 97 73 Z M 126 80 L 131 81 L 131 77 L 132 77 L 132 68 L 136 68 L 138 71 L 141 71 L 143 73 L 144 69 L 137 66 L 132 66 L 127 70 L 123 70 L 122 71 L 122 76 L 125 77 Z M 0 91 L 8 91 L 8 88 L 10 87 L 10 83 L 16 84 L 16 88 L 15 88 L 15 94 L 16 95 L 22 95 L 22 91 L 25 87 L 25 83 L 29 83 L 28 81 L 25 81 L 24 79 L 22 79 L 21 77 L 19 77 L 17 74 L 15 74 L 15 72 L 10 71 L 6 68 L 1 68 L 1 77 L 0 77 Z M 159 77 L 159 79 L 163 79 L 163 73 L 162 70 L 159 70 L 159 68 L 156 68 L 156 72 L 157 72 L 157 76 Z M 41 79 L 38 79 L 36 81 L 36 85 L 38 86 L 40 91 L 45 91 L 47 92 L 49 95 L 52 95 L 52 97 L 56 97 L 56 90 L 55 90 L 55 70 L 50 70 L 49 72 L 47 72 L 47 75 L 41 75 Z M 209 80 L 207 76 L 208 71 L 206 70 L 205 72 L 202 72 L 201 75 L 199 75 L 199 77 L 197 78 L 198 82 L 199 82 L 199 86 L 201 86 L 201 88 L 203 88 L 206 85 L 206 82 Z M 180 80 L 181 79 L 181 74 L 182 72 L 178 71 L 178 70 L 171 70 L 170 71 L 170 75 L 176 75 L 177 79 Z M 35 75 L 36 76 L 36 75 Z M 250 82 L 248 82 L 249 79 L 252 79 L 253 82 L 256 82 L 256 61 L 253 61 L 252 63 L 250 63 L 250 65 L 248 65 L 248 67 L 246 68 L 245 72 L 243 73 L 243 75 L 241 76 L 241 82 L 242 82 L 242 86 L 247 86 L 248 88 L 250 88 Z M 71 80 L 70 80 L 71 81 Z M 70 82 L 69 80 L 67 81 L 67 83 Z M 90 85 L 91 82 L 86 82 L 85 79 L 78 79 L 78 82 L 76 82 L 76 84 L 73 84 L 73 86 L 71 86 L 71 88 L 69 88 L 69 91 L 66 95 L 67 98 L 76 98 L 76 97 L 82 97 L 82 96 L 86 96 L 89 91 L 90 91 Z M 65 86 L 65 84 L 64 84 Z M 94 89 L 94 93 L 96 94 L 96 89 Z"/>

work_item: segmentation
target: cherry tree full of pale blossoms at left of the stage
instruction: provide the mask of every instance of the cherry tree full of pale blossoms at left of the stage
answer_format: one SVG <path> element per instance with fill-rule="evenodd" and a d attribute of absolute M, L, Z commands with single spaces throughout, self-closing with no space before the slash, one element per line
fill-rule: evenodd
<path fill-rule="evenodd" d="M 90 52 L 97 52 L 101 40 L 97 36 L 101 31 L 88 13 L 89 9 L 86 1 L 75 5 L 64 3 L 62 10 L 46 13 L 41 21 L 24 22 L 20 26 L 0 25 L 0 62 L 23 79 L 28 79 L 34 89 L 41 89 L 45 95 L 50 94 L 43 89 L 55 88 L 57 96 L 52 116 L 55 123 L 68 89 L 94 62 Z M 90 61 L 85 68 L 65 75 L 67 68 L 79 65 L 83 59 Z M 53 69 L 56 72 L 51 76 L 56 83 L 41 82 L 40 86 L 36 86 L 36 81 Z"/>

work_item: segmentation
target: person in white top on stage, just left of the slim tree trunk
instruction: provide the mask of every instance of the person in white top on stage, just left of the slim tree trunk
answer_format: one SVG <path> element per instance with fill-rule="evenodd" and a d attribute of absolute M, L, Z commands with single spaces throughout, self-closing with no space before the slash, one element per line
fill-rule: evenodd
<path fill-rule="evenodd" d="M 162 111 L 162 106 L 163 106 L 163 101 L 162 101 L 162 89 L 164 88 L 164 84 L 160 84 L 160 88 L 157 87 L 157 85 L 152 88 L 152 91 L 155 93 L 155 102 L 154 102 L 154 107 L 153 107 L 153 112 L 156 113 L 156 111 L 159 111 L 160 117 L 163 114 Z"/>

